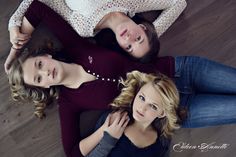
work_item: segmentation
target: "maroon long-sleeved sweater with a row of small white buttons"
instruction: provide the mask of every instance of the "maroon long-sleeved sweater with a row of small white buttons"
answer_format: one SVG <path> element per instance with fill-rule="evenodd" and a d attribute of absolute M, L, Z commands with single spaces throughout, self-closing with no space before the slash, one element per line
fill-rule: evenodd
<path fill-rule="evenodd" d="M 173 57 L 156 58 L 148 64 L 131 61 L 117 52 L 87 42 L 58 14 L 37 0 L 31 4 L 25 17 L 34 27 L 43 22 L 61 41 L 71 61 L 98 77 L 95 81 L 83 83 L 78 89 L 60 89 L 58 104 L 62 143 L 68 157 L 82 156 L 79 150 L 80 113 L 107 108 L 120 92 L 117 87 L 119 77 L 125 77 L 132 70 L 146 73 L 160 71 L 173 77 Z"/>

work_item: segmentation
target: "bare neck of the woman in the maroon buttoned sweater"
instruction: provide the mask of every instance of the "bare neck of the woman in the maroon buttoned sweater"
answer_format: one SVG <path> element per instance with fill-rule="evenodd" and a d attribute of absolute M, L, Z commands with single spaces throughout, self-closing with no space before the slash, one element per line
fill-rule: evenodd
<path fill-rule="evenodd" d="M 63 80 L 62 84 L 68 88 L 79 88 L 79 86 L 84 83 L 91 81 L 85 70 L 81 65 L 77 64 L 65 64 L 65 79 Z"/>

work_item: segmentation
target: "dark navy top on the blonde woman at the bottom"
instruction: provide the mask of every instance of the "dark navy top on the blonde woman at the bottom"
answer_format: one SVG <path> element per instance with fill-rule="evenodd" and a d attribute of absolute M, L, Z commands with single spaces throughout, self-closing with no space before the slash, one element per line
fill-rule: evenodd
<path fill-rule="evenodd" d="M 100 117 L 96 129 L 102 126 L 109 113 L 107 111 Z M 155 143 L 139 148 L 125 134 L 117 140 L 105 132 L 102 140 L 87 157 L 164 157 L 168 154 L 169 145 L 170 139 L 158 136 Z"/>

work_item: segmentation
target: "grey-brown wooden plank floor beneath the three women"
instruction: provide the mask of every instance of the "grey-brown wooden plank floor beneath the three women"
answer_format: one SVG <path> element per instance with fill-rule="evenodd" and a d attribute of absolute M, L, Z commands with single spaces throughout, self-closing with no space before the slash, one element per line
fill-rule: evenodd
<path fill-rule="evenodd" d="M 64 157 L 60 140 L 57 106 L 47 110 L 47 118 L 38 120 L 32 104 L 11 101 L 8 81 L 3 69 L 10 43 L 7 23 L 20 0 L 0 1 L 0 156 L 1 157 Z M 42 28 L 36 33 L 45 34 Z M 161 55 L 198 55 L 236 67 L 236 1 L 188 0 L 184 14 L 161 37 Z M 38 43 L 34 38 L 33 42 Z M 41 39 L 42 42 L 42 39 Z M 39 42 L 40 43 L 40 42 Z M 236 78 L 235 78 L 236 79 Z M 235 102 L 236 105 L 236 102 Z M 227 113 L 225 113 L 227 114 Z M 180 129 L 172 141 L 178 148 L 202 143 L 222 145 L 225 149 L 202 152 L 184 147 L 171 157 L 233 157 L 236 147 L 236 125 L 198 129 Z"/>

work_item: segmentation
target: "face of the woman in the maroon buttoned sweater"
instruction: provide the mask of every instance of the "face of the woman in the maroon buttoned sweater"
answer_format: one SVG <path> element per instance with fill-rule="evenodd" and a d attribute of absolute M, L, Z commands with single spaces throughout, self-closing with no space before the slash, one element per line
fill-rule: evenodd
<path fill-rule="evenodd" d="M 22 65 L 23 79 L 28 85 L 49 88 L 59 85 L 62 78 L 62 65 L 50 55 L 31 57 Z"/>

